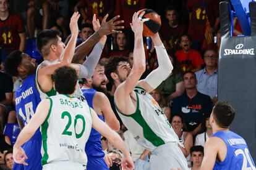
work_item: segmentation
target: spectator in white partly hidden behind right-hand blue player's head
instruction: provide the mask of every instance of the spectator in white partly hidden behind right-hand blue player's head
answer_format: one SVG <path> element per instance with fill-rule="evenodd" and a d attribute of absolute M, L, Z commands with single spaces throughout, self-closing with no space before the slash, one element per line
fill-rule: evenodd
<path fill-rule="evenodd" d="M 205 142 L 213 134 L 213 129 L 211 128 L 211 124 L 210 124 L 210 115 L 209 114 L 206 114 L 202 120 L 202 130 L 203 130 L 203 132 L 201 134 L 198 134 L 195 137 L 194 145 L 201 145 L 204 147 Z"/>

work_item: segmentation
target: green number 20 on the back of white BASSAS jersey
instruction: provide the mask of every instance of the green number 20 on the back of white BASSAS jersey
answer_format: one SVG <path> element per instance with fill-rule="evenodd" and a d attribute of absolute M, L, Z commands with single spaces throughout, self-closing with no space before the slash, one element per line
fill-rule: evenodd
<path fill-rule="evenodd" d="M 67 117 L 69 119 L 69 121 L 67 122 L 67 125 L 64 129 L 64 131 L 62 132 L 63 135 L 67 135 L 67 136 L 72 136 L 72 131 L 69 131 L 69 127 L 71 126 L 71 123 L 72 123 L 72 118 L 71 118 L 71 115 L 69 112 L 67 111 L 64 111 L 62 114 L 61 114 L 61 118 L 64 119 L 65 117 Z M 75 127 L 77 126 L 77 121 L 81 119 L 82 120 L 82 123 L 83 123 L 83 129 L 82 131 L 77 134 L 76 130 L 75 130 Z M 74 131 L 75 131 L 75 137 L 77 139 L 79 139 L 80 137 L 83 136 L 83 132 L 85 131 L 85 118 L 83 117 L 83 115 L 75 115 L 75 120 L 74 120 Z"/>

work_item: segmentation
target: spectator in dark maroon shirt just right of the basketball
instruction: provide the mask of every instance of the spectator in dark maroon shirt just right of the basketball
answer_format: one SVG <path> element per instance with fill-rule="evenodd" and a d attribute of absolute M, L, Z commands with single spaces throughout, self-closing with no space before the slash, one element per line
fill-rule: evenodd
<path fill-rule="evenodd" d="M 179 13 L 172 6 L 166 7 L 165 17 L 167 22 L 163 21 L 160 29 L 161 37 L 164 40 L 163 43 L 166 44 L 167 49 L 177 51 L 179 38 L 182 34 L 187 33 L 187 26 L 179 21 Z"/>

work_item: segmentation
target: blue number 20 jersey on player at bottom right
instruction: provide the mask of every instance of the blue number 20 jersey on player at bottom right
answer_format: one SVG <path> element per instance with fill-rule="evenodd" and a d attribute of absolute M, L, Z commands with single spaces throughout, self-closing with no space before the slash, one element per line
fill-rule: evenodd
<path fill-rule="evenodd" d="M 254 160 L 241 136 L 231 131 L 218 131 L 212 137 L 219 137 L 227 147 L 226 158 L 221 163 L 216 162 L 213 169 L 255 169 Z"/>

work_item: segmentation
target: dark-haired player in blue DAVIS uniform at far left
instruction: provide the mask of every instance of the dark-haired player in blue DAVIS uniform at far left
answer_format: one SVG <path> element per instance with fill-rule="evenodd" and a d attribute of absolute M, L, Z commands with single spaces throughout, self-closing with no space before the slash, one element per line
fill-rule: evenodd
<path fill-rule="evenodd" d="M 6 71 L 11 76 L 22 79 L 22 85 L 15 92 L 15 109 L 18 119 L 26 125 L 40 103 L 40 95 L 35 86 L 35 59 L 20 51 L 12 52 L 6 59 Z M 14 164 L 14 169 L 42 169 L 41 166 L 41 132 L 37 129 L 33 137 L 23 145 L 29 156 L 28 166 Z"/>

